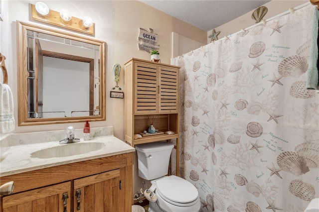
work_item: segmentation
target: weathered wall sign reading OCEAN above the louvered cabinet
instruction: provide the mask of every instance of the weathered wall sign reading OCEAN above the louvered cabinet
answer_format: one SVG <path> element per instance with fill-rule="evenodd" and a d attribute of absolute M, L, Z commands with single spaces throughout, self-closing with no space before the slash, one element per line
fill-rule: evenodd
<path fill-rule="evenodd" d="M 153 29 L 149 28 L 149 31 L 147 31 L 146 29 L 140 28 L 139 49 L 146 52 L 159 50 L 160 46 L 157 45 L 158 38 L 158 34 L 153 33 Z"/>

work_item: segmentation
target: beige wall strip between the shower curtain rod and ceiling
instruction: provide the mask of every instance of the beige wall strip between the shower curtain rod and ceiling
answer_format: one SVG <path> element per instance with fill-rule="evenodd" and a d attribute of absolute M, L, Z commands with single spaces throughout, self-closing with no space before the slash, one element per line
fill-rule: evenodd
<path fill-rule="evenodd" d="M 299 6 L 301 4 L 307 3 L 309 0 L 272 0 L 268 3 L 265 3 L 264 6 L 268 8 L 267 14 L 264 16 L 264 20 L 274 17 L 278 14 L 281 14 L 287 11 L 289 8 Z M 228 36 L 230 34 L 239 32 L 241 29 L 245 29 L 255 24 L 255 20 L 252 19 L 251 14 L 254 10 L 247 12 L 246 14 L 233 19 L 221 26 L 215 28 L 215 31 L 220 31 L 218 39 Z M 207 43 L 210 43 L 211 38 L 208 38 L 212 34 L 213 29 L 207 32 Z"/>

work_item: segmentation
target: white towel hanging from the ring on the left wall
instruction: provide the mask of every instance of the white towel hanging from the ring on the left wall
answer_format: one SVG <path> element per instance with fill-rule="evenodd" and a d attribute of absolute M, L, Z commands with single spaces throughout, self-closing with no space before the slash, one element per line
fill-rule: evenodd
<path fill-rule="evenodd" d="M 0 135 L 14 130 L 13 97 L 8 85 L 0 83 Z"/>

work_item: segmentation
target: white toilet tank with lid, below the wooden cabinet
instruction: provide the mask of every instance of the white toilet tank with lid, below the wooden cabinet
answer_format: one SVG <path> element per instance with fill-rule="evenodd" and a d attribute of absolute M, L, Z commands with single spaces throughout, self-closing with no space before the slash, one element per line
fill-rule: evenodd
<path fill-rule="evenodd" d="M 168 174 L 168 164 L 174 145 L 168 142 L 155 142 L 136 145 L 139 176 L 154 180 Z"/>

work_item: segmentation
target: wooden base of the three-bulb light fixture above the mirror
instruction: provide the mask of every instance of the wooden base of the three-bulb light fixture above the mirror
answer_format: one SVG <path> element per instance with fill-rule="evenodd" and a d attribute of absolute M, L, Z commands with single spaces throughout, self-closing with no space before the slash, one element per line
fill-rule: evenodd
<path fill-rule="evenodd" d="M 80 18 L 76 18 L 72 16 L 72 19 L 69 21 L 64 21 L 60 17 L 60 12 L 49 10 L 49 14 L 47 14 L 45 17 L 42 17 L 35 9 L 35 5 L 31 4 L 31 10 L 32 10 L 32 18 L 38 21 L 42 21 L 45 23 L 50 23 L 56 26 L 61 26 L 64 28 L 72 29 L 75 31 L 83 32 L 86 34 L 94 35 L 95 33 L 95 23 L 93 23 L 92 26 L 85 28 L 83 26 L 83 21 Z"/>

